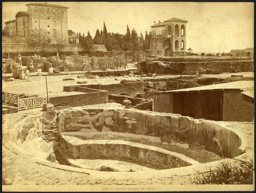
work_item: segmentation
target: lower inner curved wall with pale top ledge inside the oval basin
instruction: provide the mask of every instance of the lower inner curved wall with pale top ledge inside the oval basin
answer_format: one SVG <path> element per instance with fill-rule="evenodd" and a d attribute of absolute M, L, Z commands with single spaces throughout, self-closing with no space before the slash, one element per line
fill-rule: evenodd
<path fill-rule="evenodd" d="M 199 162 L 182 154 L 159 147 L 119 140 L 81 140 L 62 135 L 60 147 L 64 147 L 69 158 L 97 159 L 147 163 L 161 169 L 184 167 Z"/>

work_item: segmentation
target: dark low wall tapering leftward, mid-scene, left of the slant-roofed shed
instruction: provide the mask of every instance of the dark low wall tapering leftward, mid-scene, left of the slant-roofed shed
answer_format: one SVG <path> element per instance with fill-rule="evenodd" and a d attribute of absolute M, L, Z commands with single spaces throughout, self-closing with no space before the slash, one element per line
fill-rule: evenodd
<path fill-rule="evenodd" d="M 143 82 L 128 82 L 120 84 L 90 84 L 81 86 L 98 90 L 107 90 L 109 93 L 116 95 L 124 94 L 128 96 L 136 96 L 137 93 L 142 95 L 144 93 Z"/>

